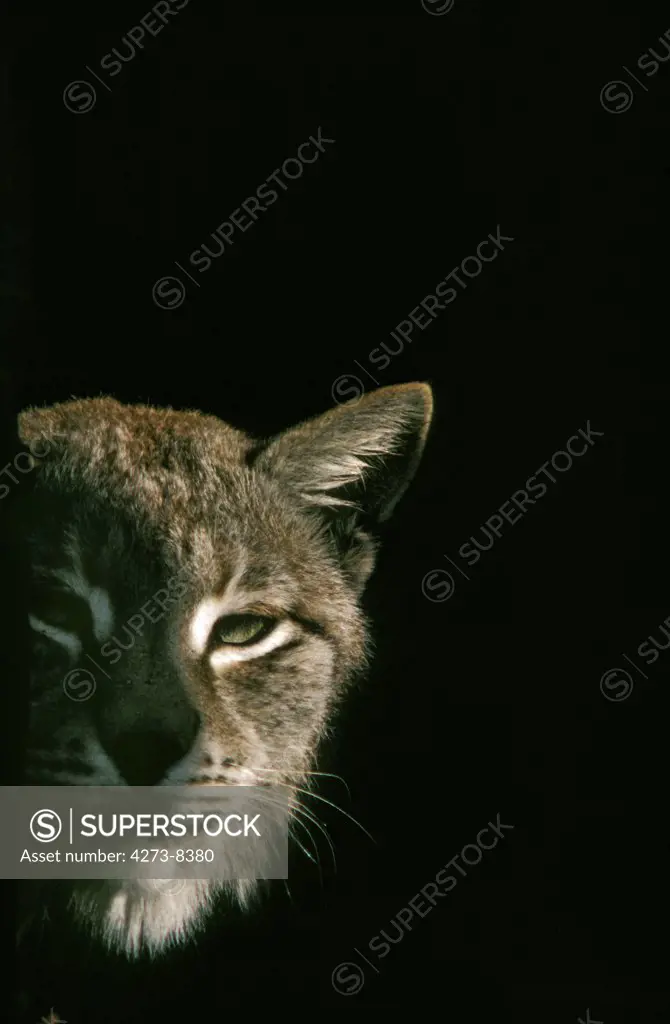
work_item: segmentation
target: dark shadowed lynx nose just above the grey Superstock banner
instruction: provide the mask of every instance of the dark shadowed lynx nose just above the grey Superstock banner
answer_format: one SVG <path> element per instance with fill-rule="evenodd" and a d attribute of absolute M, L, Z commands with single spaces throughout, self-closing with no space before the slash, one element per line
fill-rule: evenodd
<path fill-rule="evenodd" d="M 138 729 L 117 734 L 104 748 L 128 785 L 157 785 L 192 749 L 199 727 L 196 716 L 187 734 Z"/>

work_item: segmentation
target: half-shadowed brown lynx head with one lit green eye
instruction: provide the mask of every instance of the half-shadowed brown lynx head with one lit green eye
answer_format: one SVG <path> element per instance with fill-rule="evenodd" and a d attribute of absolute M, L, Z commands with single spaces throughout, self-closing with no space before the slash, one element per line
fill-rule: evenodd
<path fill-rule="evenodd" d="M 271 781 L 299 815 L 296 787 L 366 664 L 368 530 L 409 484 L 431 411 L 427 384 L 385 387 L 264 441 L 113 398 L 24 412 L 23 442 L 49 442 L 24 520 L 27 783 Z M 110 678 L 69 699 L 64 676 L 90 668 L 88 652 Z M 217 891 L 243 905 L 252 894 L 67 885 L 75 919 L 128 956 L 185 941 Z"/>

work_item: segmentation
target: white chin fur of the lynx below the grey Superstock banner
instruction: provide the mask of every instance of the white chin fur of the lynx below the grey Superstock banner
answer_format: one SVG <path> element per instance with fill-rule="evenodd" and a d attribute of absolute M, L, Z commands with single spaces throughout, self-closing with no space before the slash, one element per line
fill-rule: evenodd
<path fill-rule="evenodd" d="M 110 951 L 133 959 L 189 941 L 204 926 L 217 893 L 246 906 L 254 889 L 247 881 L 115 879 L 78 883 L 70 906 Z"/>

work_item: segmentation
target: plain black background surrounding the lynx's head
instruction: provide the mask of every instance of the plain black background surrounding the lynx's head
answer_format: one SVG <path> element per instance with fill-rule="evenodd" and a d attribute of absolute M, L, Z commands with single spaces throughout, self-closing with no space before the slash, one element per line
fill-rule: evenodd
<path fill-rule="evenodd" d="M 670 652 L 648 668 L 635 654 L 670 613 L 670 62 L 650 78 L 636 67 L 665 52 L 667 16 L 192 0 L 107 78 L 100 58 L 146 9 L 23 11 L 12 26 L 3 465 L 16 410 L 71 396 L 198 408 L 264 435 L 331 407 L 342 375 L 376 387 L 362 365 L 379 385 L 430 382 L 435 415 L 366 599 L 374 665 L 322 761 L 350 799 L 335 779 L 321 795 L 376 843 L 321 805 L 337 870 L 321 837 L 321 873 L 296 857 L 292 901 L 278 885 L 258 915 L 222 913 L 154 965 L 106 961 L 56 923 L 19 964 L 26 1020 L 362 1006 L 670 1019 Z M 631 82 L 622 65 L 642 85 L 612 113 L 600 90 Z M 96 88 L 80 114 L 62 99 L 77 79 Z M 183 276 L 174 261 L 320 127 L 335 144 L 160 308 L 158 279 Z M 498 226 L 514 241 L 375 372 L 368 353 Z M 603 436 L 469 581 L 450 568 L 445 555 L 464 567 L 459 547 L 589 421 Z M 436 568 L 455 579 L 447 600 L 422 593 Z M 18 586 L 20 558 L 13 571 Z M 19 678 L 14 648 L 2 656 Z M 634 680 L 619 701 L 599 688 L 617 666 Z M 498 813 L 513 829 L 375 958 L 373 937 L 394 935 L 391 919 Z M 360 991 L 335 990 L 343 962 L 363 969 Z"/>

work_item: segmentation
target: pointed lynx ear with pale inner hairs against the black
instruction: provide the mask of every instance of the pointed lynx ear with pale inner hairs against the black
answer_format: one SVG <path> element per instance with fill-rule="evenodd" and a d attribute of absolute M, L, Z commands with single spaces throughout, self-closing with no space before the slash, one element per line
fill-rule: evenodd
<path fill-rule="evenodd" d="M 428 384 L 382 387 L 279 434 L 255 460 L 310 506 L 389 517 L 417 469 L 432 416 Z"/>

